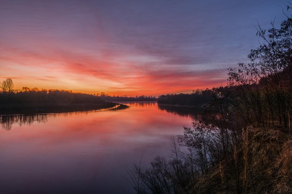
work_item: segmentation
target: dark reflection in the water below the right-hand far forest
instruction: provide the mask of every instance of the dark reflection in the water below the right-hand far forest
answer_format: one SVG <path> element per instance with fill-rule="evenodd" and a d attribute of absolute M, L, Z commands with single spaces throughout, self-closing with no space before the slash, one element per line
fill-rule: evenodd
<path fill-rule="evenodd" d="M 199 119 L 201 112 L 200 108 L 188 107 L 188 106 L 173 106 L 166 104 L 158 104 L 160 110 L 166 111 L 168 113 L 173 113 L 174 115 L 179 115 L 182 117 L 190 117 L 192 119 Z"/>

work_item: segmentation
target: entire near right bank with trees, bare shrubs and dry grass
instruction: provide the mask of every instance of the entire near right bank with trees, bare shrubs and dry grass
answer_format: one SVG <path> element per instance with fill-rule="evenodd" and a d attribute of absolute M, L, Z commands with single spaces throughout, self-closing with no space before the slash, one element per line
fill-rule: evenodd
<path fill-rule="evenodd" d="M 271 25 L 193 129 L 171 137 L 170 159 L 126 168 L 137 193 L 292 193 L 292 18 Z"/>

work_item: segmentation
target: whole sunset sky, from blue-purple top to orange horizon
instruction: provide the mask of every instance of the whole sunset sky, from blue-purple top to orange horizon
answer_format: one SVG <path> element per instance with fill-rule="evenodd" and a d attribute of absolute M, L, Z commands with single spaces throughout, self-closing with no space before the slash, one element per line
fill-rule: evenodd
<path fill-rule="evenodd" d="M 225 86 L 227 69 L 262 41 L 255 26 L 279 27 L 286 4 L 0 0 L 0 81 L 156 97 Z"/>

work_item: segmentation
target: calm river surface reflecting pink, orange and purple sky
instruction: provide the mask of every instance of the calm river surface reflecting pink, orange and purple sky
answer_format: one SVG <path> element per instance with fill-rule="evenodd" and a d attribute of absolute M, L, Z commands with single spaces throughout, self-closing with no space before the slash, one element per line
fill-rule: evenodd
<path fill-rule="evenodd" d="M 0 192 L 133 193 L 124 165 L 167 156 L 169 136 L 197 117 L 155 102 L 124 104 L 131 107 L 0 116 Z"/>

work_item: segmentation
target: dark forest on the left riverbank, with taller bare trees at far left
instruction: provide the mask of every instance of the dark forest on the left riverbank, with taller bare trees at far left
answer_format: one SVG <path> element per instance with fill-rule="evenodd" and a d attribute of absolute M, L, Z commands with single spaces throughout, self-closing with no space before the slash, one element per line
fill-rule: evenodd
<path fill-rule="evenodd" d="M 10 78 L 0 82 L 0 113 L 84 111 L 117 105 L 105 102 L 97 95 L 72 92 L 72 90 L 39 90 L 28 87 L 13 90 L 13 87 Z"/>

